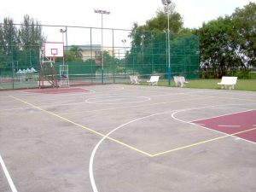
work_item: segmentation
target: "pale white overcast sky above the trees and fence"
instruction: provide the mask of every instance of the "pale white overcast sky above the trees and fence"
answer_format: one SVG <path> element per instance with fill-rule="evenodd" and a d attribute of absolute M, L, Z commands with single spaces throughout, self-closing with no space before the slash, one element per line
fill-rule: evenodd
<path fill-rule="evenodd" d="M 243 8 L 255 1 L 173 0 L 177 12 L 183 17 L 183 26 L 189 28 L 231 15 L 237 7 Z M 8 0 L 1 3 L 0 22 L 4 17 L 10 17 L 20 23 L 27 14 L 43 25 L 101 27 L 101 15 L 94 13 L 94 9 L 103 9 L 111 12 L 103 16 L 103 27 L 131 29 L 134 22 L 144 25 L 162 8 L 161 0 Z"/>

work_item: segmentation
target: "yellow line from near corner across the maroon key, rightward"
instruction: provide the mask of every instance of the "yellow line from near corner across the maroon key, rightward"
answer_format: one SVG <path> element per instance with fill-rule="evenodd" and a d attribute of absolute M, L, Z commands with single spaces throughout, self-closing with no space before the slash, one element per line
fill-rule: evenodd
<path fill-rule="evenodd" d="M 239 132 L 236 132 L 236 133 L 228 134 L 228 135 L 225 135 L 225 136 L 222 136 L 222 137 L 212 138 L 212 139 L 205 140 L 205 141 L 202 141 L 202 142 L 199 142 L 199 143 L 193 143 L 193 144 L 185 145 L 185 146 L 180 147 L 180 148 L 173 148 L 172 150 L 167 150 L 167 151 L 164 151 L 164 152 L 161 152 L 161 153 L 158 153 L 158 154 L 153 154 L 152 157 L 160 156 L 161 154 L 169 154 L 169 153 L 172 153 L 174 151 L 182 150 L 184 148 L 191 148 L 191 147 L 194 147 L 194 146 L 197 146 L 197 145 L 201 145 L 201 144 L 204 144 L 204 143 L 210 143 L 210 142 L 213 142 L 213 141 L 216 141 L 216 140 L 219 140 L 219 139 L 223 139 L 225 137 L 236 136 L 240 133 L 247 132 L 247 131 L 253 131 L 253 130 L 256 130 L 256 127 L 252 128 L 252 129 L 249 129 L 249 130 L 239 131 Z"/>

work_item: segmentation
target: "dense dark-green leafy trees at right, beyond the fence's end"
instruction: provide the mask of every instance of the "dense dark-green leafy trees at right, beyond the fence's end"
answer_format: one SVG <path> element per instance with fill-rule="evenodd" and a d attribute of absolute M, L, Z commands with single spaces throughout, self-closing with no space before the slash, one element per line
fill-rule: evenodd
<path fill-rule="evenodd" d="M 246 71 L 247 67 L 255 66 L 255 28 L 256 4 L 249 3 L 243 9 L 236 9 L 233 15 L 211 20 L 196 30 L 201 44 L 203 77 L 220 78 L 230 71 L 234 73 L 240 68 Z"/>

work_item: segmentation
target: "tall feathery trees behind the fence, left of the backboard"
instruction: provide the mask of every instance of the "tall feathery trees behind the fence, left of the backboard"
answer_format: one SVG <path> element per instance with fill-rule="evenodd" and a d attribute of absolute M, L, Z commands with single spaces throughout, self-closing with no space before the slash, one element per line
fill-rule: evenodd
<path fill-rule="evenodd" d="M 16 27 L 10 18 L 4 18 L 0 25 L 0 68 L 38 66 L 39 50 L 44 36 L 38 21 L 28 15 L 24 16 L 20 28 Z M 0 73 L 4 73 L 1 70 Z"/>

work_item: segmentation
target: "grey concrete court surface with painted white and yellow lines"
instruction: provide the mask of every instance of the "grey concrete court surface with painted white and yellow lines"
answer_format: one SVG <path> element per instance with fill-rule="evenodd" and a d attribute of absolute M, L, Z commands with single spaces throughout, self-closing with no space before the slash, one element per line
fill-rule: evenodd
<path fill-rule="evenodd" d="M 0 155 L 11 178 L 0 166 L 1 192 L 256 191 L 255 143 L 193 123 L 247 111 L 256 119 L 256 92 L 76 89 L 0 91 Z M 254 137 L 252 122 L 245 132 Z"/>

